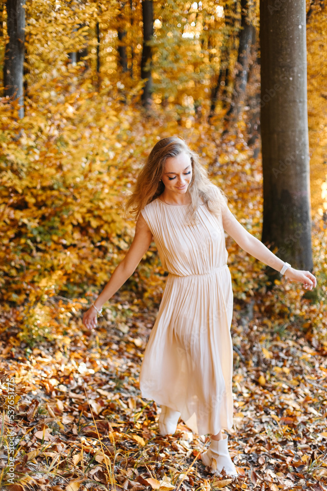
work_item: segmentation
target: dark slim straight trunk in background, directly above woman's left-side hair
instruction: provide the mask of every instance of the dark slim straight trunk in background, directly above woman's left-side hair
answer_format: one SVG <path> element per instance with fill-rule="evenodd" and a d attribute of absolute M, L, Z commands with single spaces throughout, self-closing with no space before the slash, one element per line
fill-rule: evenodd
<path fill-rule="evenodd" d="M 142 103 L 148 106 L 151 100 L 151 69 L 147 68 L 147 64 L 151 62 L 151 46 L 148 41 L 153 36 L 153 3 L 152 0 L 143 0 L 142 2 L 143 15 L 143 50 L 141 59 L 141 78 L 148 79 L 143 87 Z"/>

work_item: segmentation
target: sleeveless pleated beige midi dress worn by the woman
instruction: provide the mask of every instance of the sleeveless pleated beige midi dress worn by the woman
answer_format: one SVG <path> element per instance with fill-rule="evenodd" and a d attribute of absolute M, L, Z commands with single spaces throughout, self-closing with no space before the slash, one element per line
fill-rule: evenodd
<path fill-rule="evenodd" d="M 226 206 L 226 204 L 224 204 Z M 233 424 L 233 312 L 222 217 L 203 204 L 186 225 L 187 205 L 159 198 L 142 215 L 169 272 L 140 373 L 142 397 L 181 413 L 198 435 Z"/>

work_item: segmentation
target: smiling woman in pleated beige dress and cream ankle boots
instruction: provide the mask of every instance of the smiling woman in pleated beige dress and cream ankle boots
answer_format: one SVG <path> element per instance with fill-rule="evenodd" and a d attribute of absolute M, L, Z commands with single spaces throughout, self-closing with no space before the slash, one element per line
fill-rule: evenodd
<path fill-rule="evenodd" d="M 230 325 L 231 276 L 224 230 L 246 252 L 312 289 L 308 271 L 284 263 L 233 216 L 226 196 L 213 185 L 196 153 L 178 137 L 158 141 L 141 170 L 126 208 L 137 218 L 134 240 L 109 282 L 85 312 L 83 323 L 97 325 L 97 314 L 135 271 L 155 241 L 169 272 L 140 373 L 142 397 L 161 405 L 159 432 L 174 434 L 181 416 L 199 435 L 210 434 L 201 454 L 211 472 L 237 475 L 227 449 L 232 428 Z"/>

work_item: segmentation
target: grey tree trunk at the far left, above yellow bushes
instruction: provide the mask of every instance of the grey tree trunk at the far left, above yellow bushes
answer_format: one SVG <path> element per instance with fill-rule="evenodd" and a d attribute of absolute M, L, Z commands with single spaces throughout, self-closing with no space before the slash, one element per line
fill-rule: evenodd
<path fill-rule="evenodd" d="M 24 117 L 25 0 L 7 0 L 7 32 L 3 85 L 5 96 L 19 98 L 19 118 Z"/>

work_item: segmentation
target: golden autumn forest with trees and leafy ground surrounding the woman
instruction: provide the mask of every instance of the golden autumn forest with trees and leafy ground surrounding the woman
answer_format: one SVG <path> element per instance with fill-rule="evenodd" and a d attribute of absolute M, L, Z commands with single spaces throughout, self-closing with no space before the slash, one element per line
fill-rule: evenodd
<path fill-rule="evenodd" d="M 325 0 L 0 0 L 0 489 L 327 490 Z M 138 376 L 167 272 L 124 204 L 180 136 L 304 291 L 226 234 L 236 479 Z"/>

